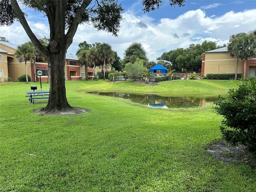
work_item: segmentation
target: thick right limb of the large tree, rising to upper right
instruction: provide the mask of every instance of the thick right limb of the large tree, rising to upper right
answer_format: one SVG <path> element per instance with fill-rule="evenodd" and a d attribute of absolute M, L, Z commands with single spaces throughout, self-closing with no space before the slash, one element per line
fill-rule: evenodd
<path fill-rule="evenodd" d="M 76 16 L 73 19 L 72 24 L 71 24 L 71 26 L 68 29 L 68 32 L 66 34 L 66 37 L 67 37 L 67 47 L 66 47 L 66 49 L 68 49 L 68 47 L 72 44 L 73 37 L 76 33 L 78 25 L 80 24 L 81 17 L 84 14 L 84 11 L 85 11 L 86 7 L 88 7 L 91 2 L 92 2 L 92 0 L 84 0 L 82 2 L 82 5 L 81 5 L 80 9 L 76 11 Z"/>

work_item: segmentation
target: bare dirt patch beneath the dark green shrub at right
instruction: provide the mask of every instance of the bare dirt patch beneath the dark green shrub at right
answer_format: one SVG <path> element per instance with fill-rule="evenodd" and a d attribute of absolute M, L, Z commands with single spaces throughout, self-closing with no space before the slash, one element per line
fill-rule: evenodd
<path fill-rule="evenodd" d="M 231 146 L 226 141 L 220 141 L 207 148 L 216 159 L 226 163 L 244 164 L 256 169 L 256 156 L 244 145 Z"/>

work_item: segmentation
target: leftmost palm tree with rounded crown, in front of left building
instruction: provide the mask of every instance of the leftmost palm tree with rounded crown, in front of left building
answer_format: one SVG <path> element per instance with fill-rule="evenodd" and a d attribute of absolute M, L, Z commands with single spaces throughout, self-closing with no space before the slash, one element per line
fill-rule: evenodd
<path fill-rule="evenodd" d="M 25 73 L 26 73 L 26 83 L 28 84 L 28 70 L 27 70 L 27 61 L 33 60 L 35 58 L 34 49 L 28 42 L 19 45 L 16 52 L 14 53 L 18 62 L 25 62 Z"/>

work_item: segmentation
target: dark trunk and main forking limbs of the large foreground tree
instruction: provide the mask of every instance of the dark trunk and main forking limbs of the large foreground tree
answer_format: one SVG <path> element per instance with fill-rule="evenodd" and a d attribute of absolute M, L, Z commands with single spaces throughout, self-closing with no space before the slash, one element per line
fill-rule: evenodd
<path fill-rule="evenodd" d="M 89 1 L 82 1 L 80 9 L 76 10 L 74 20 L 66 30 L 66 10 L 68 1 L 43 1 L 36 3 L 39 6 L 39 10 L 45 12 L 49 27 L 50 27 L 50 43 L 46 48 L 36 38 L 35 34 L 30 29 L 28 22 L 24 16 L 24 13 L 20 9 L 16 0 L 11 0 L 13 12 L 19 19 L 24 30 L 28 34 L 30 40 L 34 45 L 47 57 L 48 68 L 50 70 L 50 96 L 47 106 L 43 109 L 45 112 L 51 112 L 55 110 L 69 110 L 72 107 L 68 104 L 66 98 L 65 88 L 65 54 L 66 50 L 72 43 L 74 34 L 76 33 L 78 24 L 81 21 L 81 17 L 84 14 L 84 10 L 90 4 Z M 71 2 L 69 2 L 71 3 Z M 66 31 L 66 34 L 65 34 Z"/>

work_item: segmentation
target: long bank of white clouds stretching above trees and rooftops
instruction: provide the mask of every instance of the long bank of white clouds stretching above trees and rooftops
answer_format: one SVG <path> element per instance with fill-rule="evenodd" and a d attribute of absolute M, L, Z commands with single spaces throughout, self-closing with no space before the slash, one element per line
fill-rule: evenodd
<path fill-rule="evenodd" d="M 229 36 L 256 29 L 256 9 L 243 12 L 227 12 L 222 16 L 206 16 L 207 10 L 190 10 L 177 18 L 154 18 L 133 12 L 123 13 L 118 37 L 97 31 L 88 24 L 78 26 L 68 53 L 75 54 L 80 42 L 106 42 L 123 58 L 123 53 L 132 42 L 141 42 L 150 60 L 155 60 L 163 52 L 177 48 L 188 48 L 189 44 L 201 44 L 204 40 L 217 45 L 227 44 Z M 30 21 L 30 26 L 38 38 L 49 37 L 47 22 Z M 29 40 L 22 26 L 16 22 L 10 27 L 1 27 L 0 35 L 10 42 L 22 44 Z"/>

